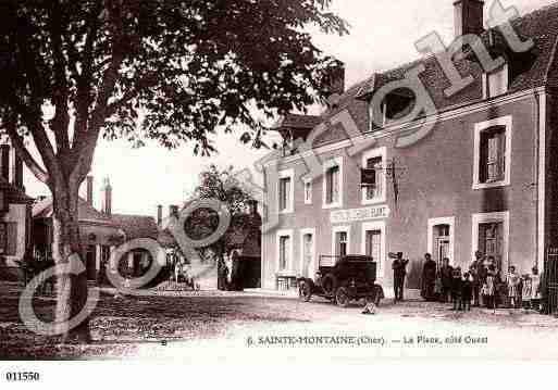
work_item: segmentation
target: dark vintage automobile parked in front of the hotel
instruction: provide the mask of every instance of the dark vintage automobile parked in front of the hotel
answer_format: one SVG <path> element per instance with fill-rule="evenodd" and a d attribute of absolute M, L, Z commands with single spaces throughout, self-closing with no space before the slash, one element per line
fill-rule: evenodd
<path fill-rule="evenodd" d="M 308 302 L 312 295 L 318 295 L 342 307 L 361 299 L 380 303 L 384 292 L 375 281 L 376 263 L 363 255 L 320 256 L 314 279 L 297 279 L 300 300 Z"/>

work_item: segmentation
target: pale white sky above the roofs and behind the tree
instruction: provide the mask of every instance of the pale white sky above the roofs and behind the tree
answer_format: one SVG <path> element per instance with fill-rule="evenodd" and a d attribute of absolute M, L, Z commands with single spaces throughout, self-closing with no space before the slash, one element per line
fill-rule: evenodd
<path fill-rule="evenodd" d="M 555 0 L 503 0 L 521 14 Z M 346 86 L 414 60 L 414 42 L 436 30 L 447 43 L 454 35 L 454 0 L 334 0 L 334 11 L 347 20 L 350 35 L 345 37 L 314 34 L 318 47 L 346 64 Z M 486 0 L 486 8 L 492 0 Z M 156 144 L 132 149 L 126 141 L 101 141 L 92 166 L 95 204 L 98 206 L 101 179 L 110 177 L 113 187 L 113 212 L 156 215 L 157 204 L 179 204 L 195 188 L 201 169 L 214 163 L 220 166 L 250 167 L 268 151 L 255 151 L 237 141 L 239 135 L 221 135 L 219 154 L 194 156 L 186 144 L 168 151 Z M 30 196 L 49 190 L 26 171 L 25 186 Z"/>

